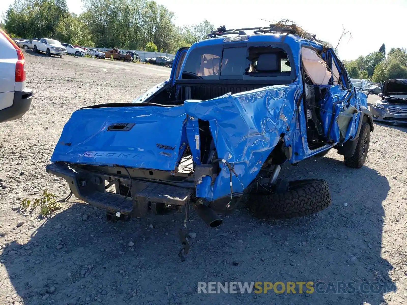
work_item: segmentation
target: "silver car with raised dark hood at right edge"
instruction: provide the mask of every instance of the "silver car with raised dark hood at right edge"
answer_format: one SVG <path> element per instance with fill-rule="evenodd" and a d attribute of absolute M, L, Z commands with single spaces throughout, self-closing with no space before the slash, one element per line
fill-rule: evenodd
<path fill-rule="evenodd" d="M 372 106 L 373 120 L 407 124 L 407 79 L 389 79 Z"/>

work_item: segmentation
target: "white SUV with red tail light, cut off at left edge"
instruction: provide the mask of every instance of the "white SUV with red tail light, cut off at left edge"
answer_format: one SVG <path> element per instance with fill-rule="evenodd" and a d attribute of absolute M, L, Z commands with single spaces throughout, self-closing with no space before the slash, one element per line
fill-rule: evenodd
<path fill-rule="evenodd" d="M 0 28 L 0 122 L 21 118 L 30 108 L 23 52 Z"/>

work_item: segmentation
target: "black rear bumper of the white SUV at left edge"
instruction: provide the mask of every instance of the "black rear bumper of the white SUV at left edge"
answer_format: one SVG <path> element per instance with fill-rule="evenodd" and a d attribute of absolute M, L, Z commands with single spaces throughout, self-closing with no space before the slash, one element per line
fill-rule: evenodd
<path fill-rule="evenodd" d="M 25 88 L 14 92 L 13 105 L 0 110 L 0 123 L 21 118 L 30 109 L 33 90 Z"/>

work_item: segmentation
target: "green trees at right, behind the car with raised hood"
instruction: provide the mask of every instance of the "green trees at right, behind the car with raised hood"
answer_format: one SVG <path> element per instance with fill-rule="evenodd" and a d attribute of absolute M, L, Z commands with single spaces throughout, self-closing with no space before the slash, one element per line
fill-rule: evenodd
<path fill-rule="evenodd" d="M 386 57 L 383 44 L 379 51 L 359 56 L 353 61 L 344 61 L 351 78 L 369 79 L 376 83 L 392 78 L 407 78 L 407 50 L 392 48 Z"/>

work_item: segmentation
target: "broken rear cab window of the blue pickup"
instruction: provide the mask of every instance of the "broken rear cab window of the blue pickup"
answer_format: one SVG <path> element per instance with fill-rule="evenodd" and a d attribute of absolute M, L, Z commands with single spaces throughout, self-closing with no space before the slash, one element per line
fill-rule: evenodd
<path fill-rule="evenodd" d="M 285 46 L 284 46 L 285 45 Z M 190 51 L 182 71 L 182 79 L 202 80 L 267 80 L 295 79 L 293 57 L 288 45 L 217 44 Z"/>

